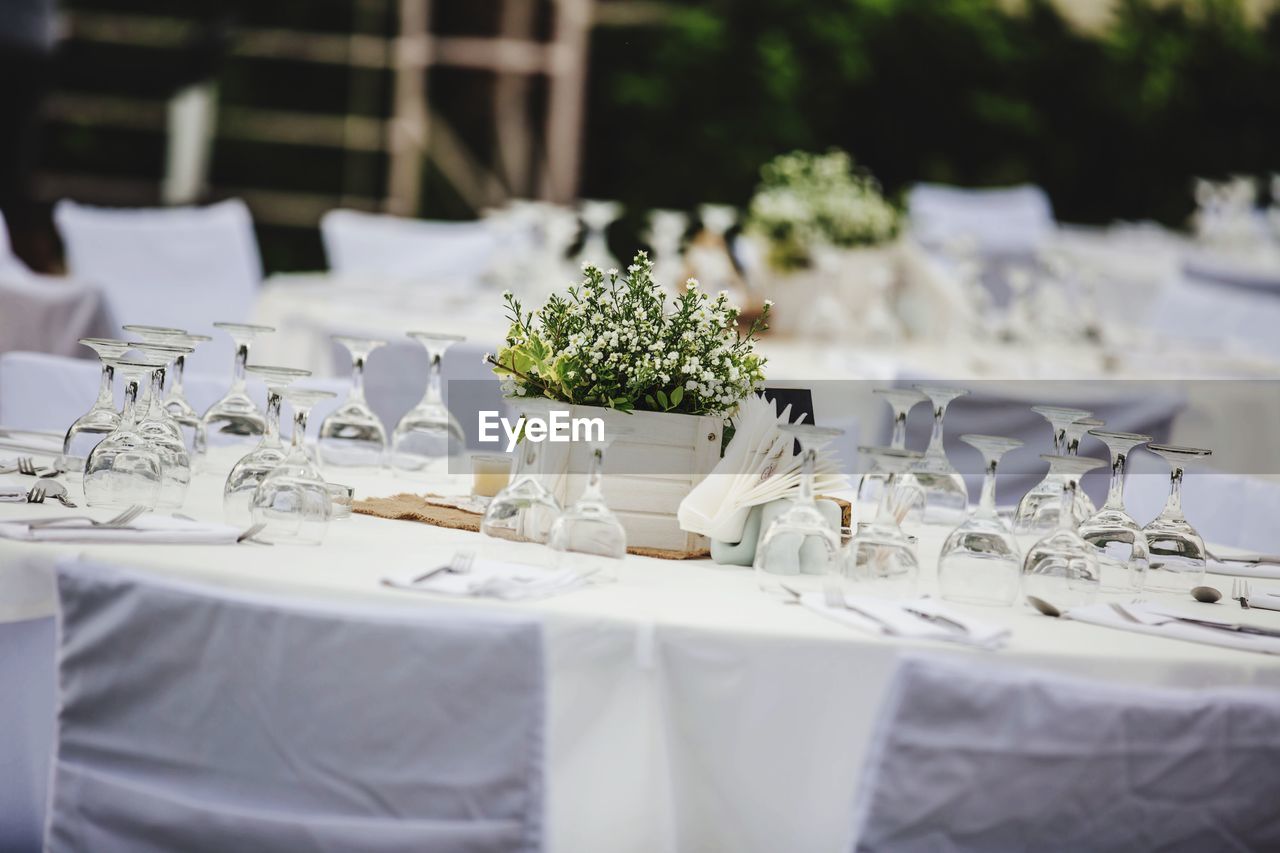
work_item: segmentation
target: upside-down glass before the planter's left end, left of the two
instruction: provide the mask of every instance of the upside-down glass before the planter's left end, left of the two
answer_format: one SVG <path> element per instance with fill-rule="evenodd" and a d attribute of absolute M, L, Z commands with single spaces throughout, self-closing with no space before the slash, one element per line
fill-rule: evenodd
<path fill-rule="evenodd" d="M 549 400 L 543 398 L 522 400 L 520 403 L 525 418 L 545 419 L 552 406 Z M 535 566 L 549 562 L 547 549 L 536 544 L 547 543 L 549 525 L 559 517 L 561 505 L 538 479 L 539 448 L 540 443 L 529 437 L 521 441 L 520 470 L 485 508 L 480 521 L 485 556 Z M 502 544 L 498 544 L 499 539 Z"/>

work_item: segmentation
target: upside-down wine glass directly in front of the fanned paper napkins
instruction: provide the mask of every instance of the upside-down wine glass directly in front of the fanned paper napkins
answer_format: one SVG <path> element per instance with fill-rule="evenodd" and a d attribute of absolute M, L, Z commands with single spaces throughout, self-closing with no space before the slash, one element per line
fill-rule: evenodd
<path fill-rule="evenodd" d="M 844 430 L 812 424 L 778 424 L 778 430 L 800 444 L 800 489 L 791 506 L 764 532 L 754 565 L 762 590 L 790 597 L 790 590 L 820 589 L 840 575 L 840 529 L 818 510 L 813 484 L 818 451 Z"/>

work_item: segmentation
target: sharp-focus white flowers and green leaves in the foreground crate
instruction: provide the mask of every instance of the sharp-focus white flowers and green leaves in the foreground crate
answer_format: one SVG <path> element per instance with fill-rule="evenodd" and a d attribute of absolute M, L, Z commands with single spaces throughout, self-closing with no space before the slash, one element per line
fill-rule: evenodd
<path fill-rule="evenodd" d="M 508 396 L 607 406 L 622 411 L 726 415 L 764 380 L 755 336 L 769 304 L 745 333 L 723 291 L 703 293 L 689 279 L 668 298 L 639 252 L 625 275 L 582 265 L 582 280 L 536 313 L 503 295 L 507 346 L 486 356 Z"/>

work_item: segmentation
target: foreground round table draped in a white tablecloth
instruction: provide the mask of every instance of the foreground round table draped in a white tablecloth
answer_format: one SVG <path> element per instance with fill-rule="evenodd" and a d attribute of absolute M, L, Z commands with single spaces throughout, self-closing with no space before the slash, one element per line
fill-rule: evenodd
<path fill-rule="evenodd" d="M 355 485 L 357 496 L 421 487 L 378 471 L 326 474 Z M 466 485 L 442 478 L 431 488 L 458 492 Z M 221 475 L 198 474 L 183 508 L 201 520 L 220 520 L 220 494 Z M 59 512 L 67 510 L 0 503 L 0 520 Z M 945 534 L 931 528 L 920 534 L 925 590 Z M 1280 657 L 1051 620 L 1024 606 L 972 608 L 1012 630 L 998 652 L 870 637 L 785 606 L 760 593 L 749 570 L 710 561 L 628 557 L 616 584 L 534 602 L 456 599 L 380 584 L 387 573 L 439 565 L 453 549 L 475 543 L 474 533 L 360 515 L 333 523 L 320 547 L 0 539 L 0 622 L 9 622 L 0 629 L 31 629 L 24 642 L 0 642 L 0 674 L 18 672 L 27 684 L 20 699 L 13 692 L 3 698 L 0 690 L 0 719 L 24 708 L 28 717 L 51 713 L 52 567 L 76 553 L 280 596 L 538 615 L 548 658 L 552 850 L 850 849 L 863 756 L 904 652 L 984 654 L 991 666 L 1135 685 L 1280 689 Z M 1260 624 L 1280 626 L 1280 612 L 1253 613 Z M 42 777 L 52 721 L 28 719 L 23 727 L 0 731 L 0 766 L 8 761 Z M 5 784 L 0 780 L 0 808 L 14 809 L 22 798 L 6 794 Z M 24 825 L 38 838 L 38 821 L 37 813 L 0 815 L 0 834 Z"/>

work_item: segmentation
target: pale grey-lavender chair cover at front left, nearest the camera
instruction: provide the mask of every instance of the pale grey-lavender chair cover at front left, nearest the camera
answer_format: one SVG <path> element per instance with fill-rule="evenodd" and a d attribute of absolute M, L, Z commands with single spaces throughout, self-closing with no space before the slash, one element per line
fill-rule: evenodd
<path fill-rule="evenodd" d="M 49 853 L 538 850 L 541 628 L 58 570 Z"/>

